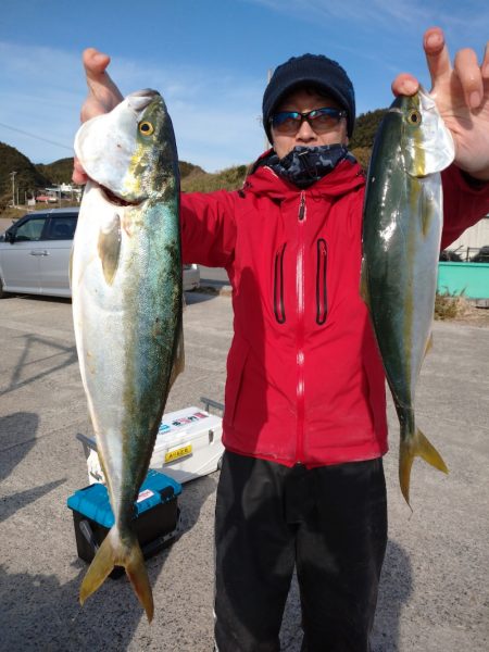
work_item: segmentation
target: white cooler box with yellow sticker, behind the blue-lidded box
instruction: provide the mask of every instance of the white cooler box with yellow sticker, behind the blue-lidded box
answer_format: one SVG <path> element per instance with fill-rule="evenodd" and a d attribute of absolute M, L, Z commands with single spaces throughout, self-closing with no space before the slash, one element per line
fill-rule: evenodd
<path fill-rule="evenodd" d="M 221 408 L 213 401 L 204 403 Z M 195 405 L 163 415 L 150 468 L 161 471 L 178 482 L 187 482 L 221 467 L 223 419 Z M 90 484 L 104 482 L 93 439 L 78 435 L 87 457 Z"/>

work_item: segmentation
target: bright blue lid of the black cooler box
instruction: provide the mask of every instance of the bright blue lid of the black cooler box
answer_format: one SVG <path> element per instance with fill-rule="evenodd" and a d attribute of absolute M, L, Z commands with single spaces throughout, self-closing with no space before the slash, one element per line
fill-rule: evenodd
<path fill-rule="evenodd" d="M 139 496 L 134 503 L 135 518 L 152 507 L 172 500 L 181 493 L 181 485 L 173 478 L 150 468 L 139 489 Z M 114 514 L 109 501 L 109 492 L 104 485 L 95 484 L 75 491 L 67 499 L 67 506 L 91 518 L 103 527 L 112 527 Z"/>

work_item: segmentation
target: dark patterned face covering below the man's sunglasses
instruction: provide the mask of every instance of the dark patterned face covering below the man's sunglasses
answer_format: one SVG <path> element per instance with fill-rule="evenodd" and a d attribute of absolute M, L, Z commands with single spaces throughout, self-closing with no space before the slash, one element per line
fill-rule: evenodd
<path fill-rule="evenodd" d="M 284 159 L 279 159 L 274 152 L 266 165 L 298 188 L 309 188 L 344 159 L 355 162 L 344 145 L 297 146 Z"/>

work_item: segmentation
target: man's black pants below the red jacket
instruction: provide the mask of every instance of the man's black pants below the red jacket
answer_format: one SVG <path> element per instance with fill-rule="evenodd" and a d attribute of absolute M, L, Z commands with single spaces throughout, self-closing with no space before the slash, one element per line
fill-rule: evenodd
<path fill-rule="evenodd" d="M 308 471 L 227 452 L 215 543 L 218 652 L 280 649 L 294 566 L 302 649 L 369 650 L 387 543 L 381 459 Z"/>

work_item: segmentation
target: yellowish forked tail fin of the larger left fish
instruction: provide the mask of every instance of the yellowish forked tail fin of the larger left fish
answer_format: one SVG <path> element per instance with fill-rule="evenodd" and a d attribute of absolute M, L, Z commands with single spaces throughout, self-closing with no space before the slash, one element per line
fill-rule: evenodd
<path fill-rule="evenodd" d="M 116 526 L 112 527 L 102 541 L 84 577 L 79 590 L 80 604 L 84 604 L 85 600 L 102 586 L 115 565 L 125 567 L 127 577 L 133 585 L 139 602 L 145 607 L 148 620 L 151 623 L 154 611 L 153 594 L 142 551 L 136 536 L 130 538 L 128 544 L 123 543 Z"/>

